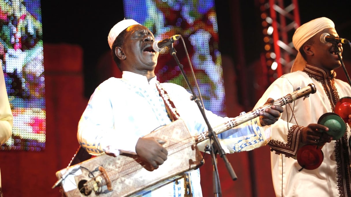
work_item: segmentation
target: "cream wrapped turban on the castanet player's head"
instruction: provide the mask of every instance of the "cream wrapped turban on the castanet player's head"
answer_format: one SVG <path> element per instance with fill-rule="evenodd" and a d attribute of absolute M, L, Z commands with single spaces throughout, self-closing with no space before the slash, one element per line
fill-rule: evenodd
<path fill-rule="evenodd" d="M 335 28 L 334 22 L 326 17 L 313 19 L 306 22 L 302 26 L 296 29 L 292 36 L 292 43 L 296 50 L 299 50 L 303 44 L 316 35 L 318 32 L 326 28 Z M 303 58 L 300 52 L 297 53 L 296 59 L 291 67 L 291 72 L 297 70 L 303 70 L 306 64 L 306 60 Z"/>

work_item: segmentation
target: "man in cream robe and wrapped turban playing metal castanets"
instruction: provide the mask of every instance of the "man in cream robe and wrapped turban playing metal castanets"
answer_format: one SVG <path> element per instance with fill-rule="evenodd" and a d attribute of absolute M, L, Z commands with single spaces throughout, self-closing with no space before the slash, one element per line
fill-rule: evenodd
<path fill-rule="evenodd" d="M 339 37 L 333 21 L 325 17 L 306 22 L 296 29 L 292 42 L 298 54 L 291 73 L 274 81 L 256 104 L 260 106 L 268 97 L 276 99 L 308 83 L 316 85 L 316 94 L 286 105 L 280 119 L 272 125 L 269 145 L 276 196 L 351 195 L 350 150 L 347 145 L 350 128 L 347 126 L 347 132 L 339 140 L 332 140 L 327 130 L 319 131 L 323 125 L 317 124 L 323 114 L 334 112 L 339 99 L 351 96 L 350 85 L 336 79 L 335 69 L 341 66 L 341 62 L 333 44 L 320 41 L 324 33 Z M 342 44 L 338 43 L 338 47 L 342 53 Z M 297 151 L 306 144 L 316 145 L 323 152 L 322 164 L 317 169 L 303 169 L 297 162 Z"/>

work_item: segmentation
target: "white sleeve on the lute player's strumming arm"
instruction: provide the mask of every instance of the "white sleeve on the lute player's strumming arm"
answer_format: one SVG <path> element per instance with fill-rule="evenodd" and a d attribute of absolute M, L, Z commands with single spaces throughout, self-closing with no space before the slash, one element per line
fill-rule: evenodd
<path fill-rule="evenodd" d="M 92 155 L 103 152 L 116 156 L 120 152 L 136 154 L 135 145 L 139 136 L 128 134 L 128 128 L 116 129 L 108 95 L 100 87 L 94 91 L 78 124 L 78 141 Z"/>

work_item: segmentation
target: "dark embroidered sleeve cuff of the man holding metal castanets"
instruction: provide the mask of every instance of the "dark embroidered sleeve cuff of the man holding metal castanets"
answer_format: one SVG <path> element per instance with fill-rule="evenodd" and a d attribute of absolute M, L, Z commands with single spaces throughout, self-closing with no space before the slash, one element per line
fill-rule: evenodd
<path fill-rule="evenodd" d="M 276 151 L 276 154 L 284 154 L 286 157 L 296 156 L 298 144 L 300 142 L 300 132 L 303 126 L 292 125 L 287 134 L 287 143 L 279 142 L 274 139 L 268 142 L 268 145 L 272 150 Z"/>

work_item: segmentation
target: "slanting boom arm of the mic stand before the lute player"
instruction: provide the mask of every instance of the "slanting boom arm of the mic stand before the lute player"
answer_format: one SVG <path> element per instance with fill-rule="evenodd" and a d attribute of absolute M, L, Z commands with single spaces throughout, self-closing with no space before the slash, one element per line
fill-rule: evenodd
<path fill-rule="evenodd" d="M 188 84 L 188 87 L 191 90 L 191 93 L 193 94 L 192 100 L 194 100 L 196 102 L 197 106 L 200 109 L 201 115 L 204 117 L 204 120 L 205 120 L 206 125 L 208 127 L 209 137 L 211 137 L 211 139 L 213 140 L 213 144 L 215 145 L 215 148 L 218 151 L 218 154 L 220 155 L 221 158 L 223 158 L 223 160 L 225 162 L 225 166 L 226 166 L 227 170 L 229 171 L 229 174 L 230 174 L 231 178 L 235 181 L 237 179 L 237 176 L 236 176 L 236 174 L 235 174 L 230 162 L 227 159 L 227 156 L 226 156 L 226 153 L 225 153 L 224 149 L 221 147 L 221 145 L 219 143 L 217 135 L 214 133 L 210 123 L 208 122 L 208 119 L 207 119 L 206 114 L 205 114 L 205 110 L 204 110 L 203 106 L 201 105 L 198 97 L 196 96 L 196 94 L 194 92 L 194 89 L 191 86 L 191 84 L 190 84 L 190 82 L 189 82 L 189 80 L 188 80 L 188 78 L 187 78 L 187 76 L 186 76 L 186 74 L 184 72 L 183 65 L 180 63 L 180 61 L 179 61 L 179 59 L 177 57 L 177 51 L 176 51 L 176 49 L 174 49 L 173 43 L 170 46 L 170 53 L 174 57 L 174 59 L 176 60 L 178 66 L 179 66 L 179 69 L 180 69 L 181 73 L 183 74 L 184 79 L 185 79 L 186 83 Z M 219 180 L 219 177 L 218 177 L 218 180 Z"/>

